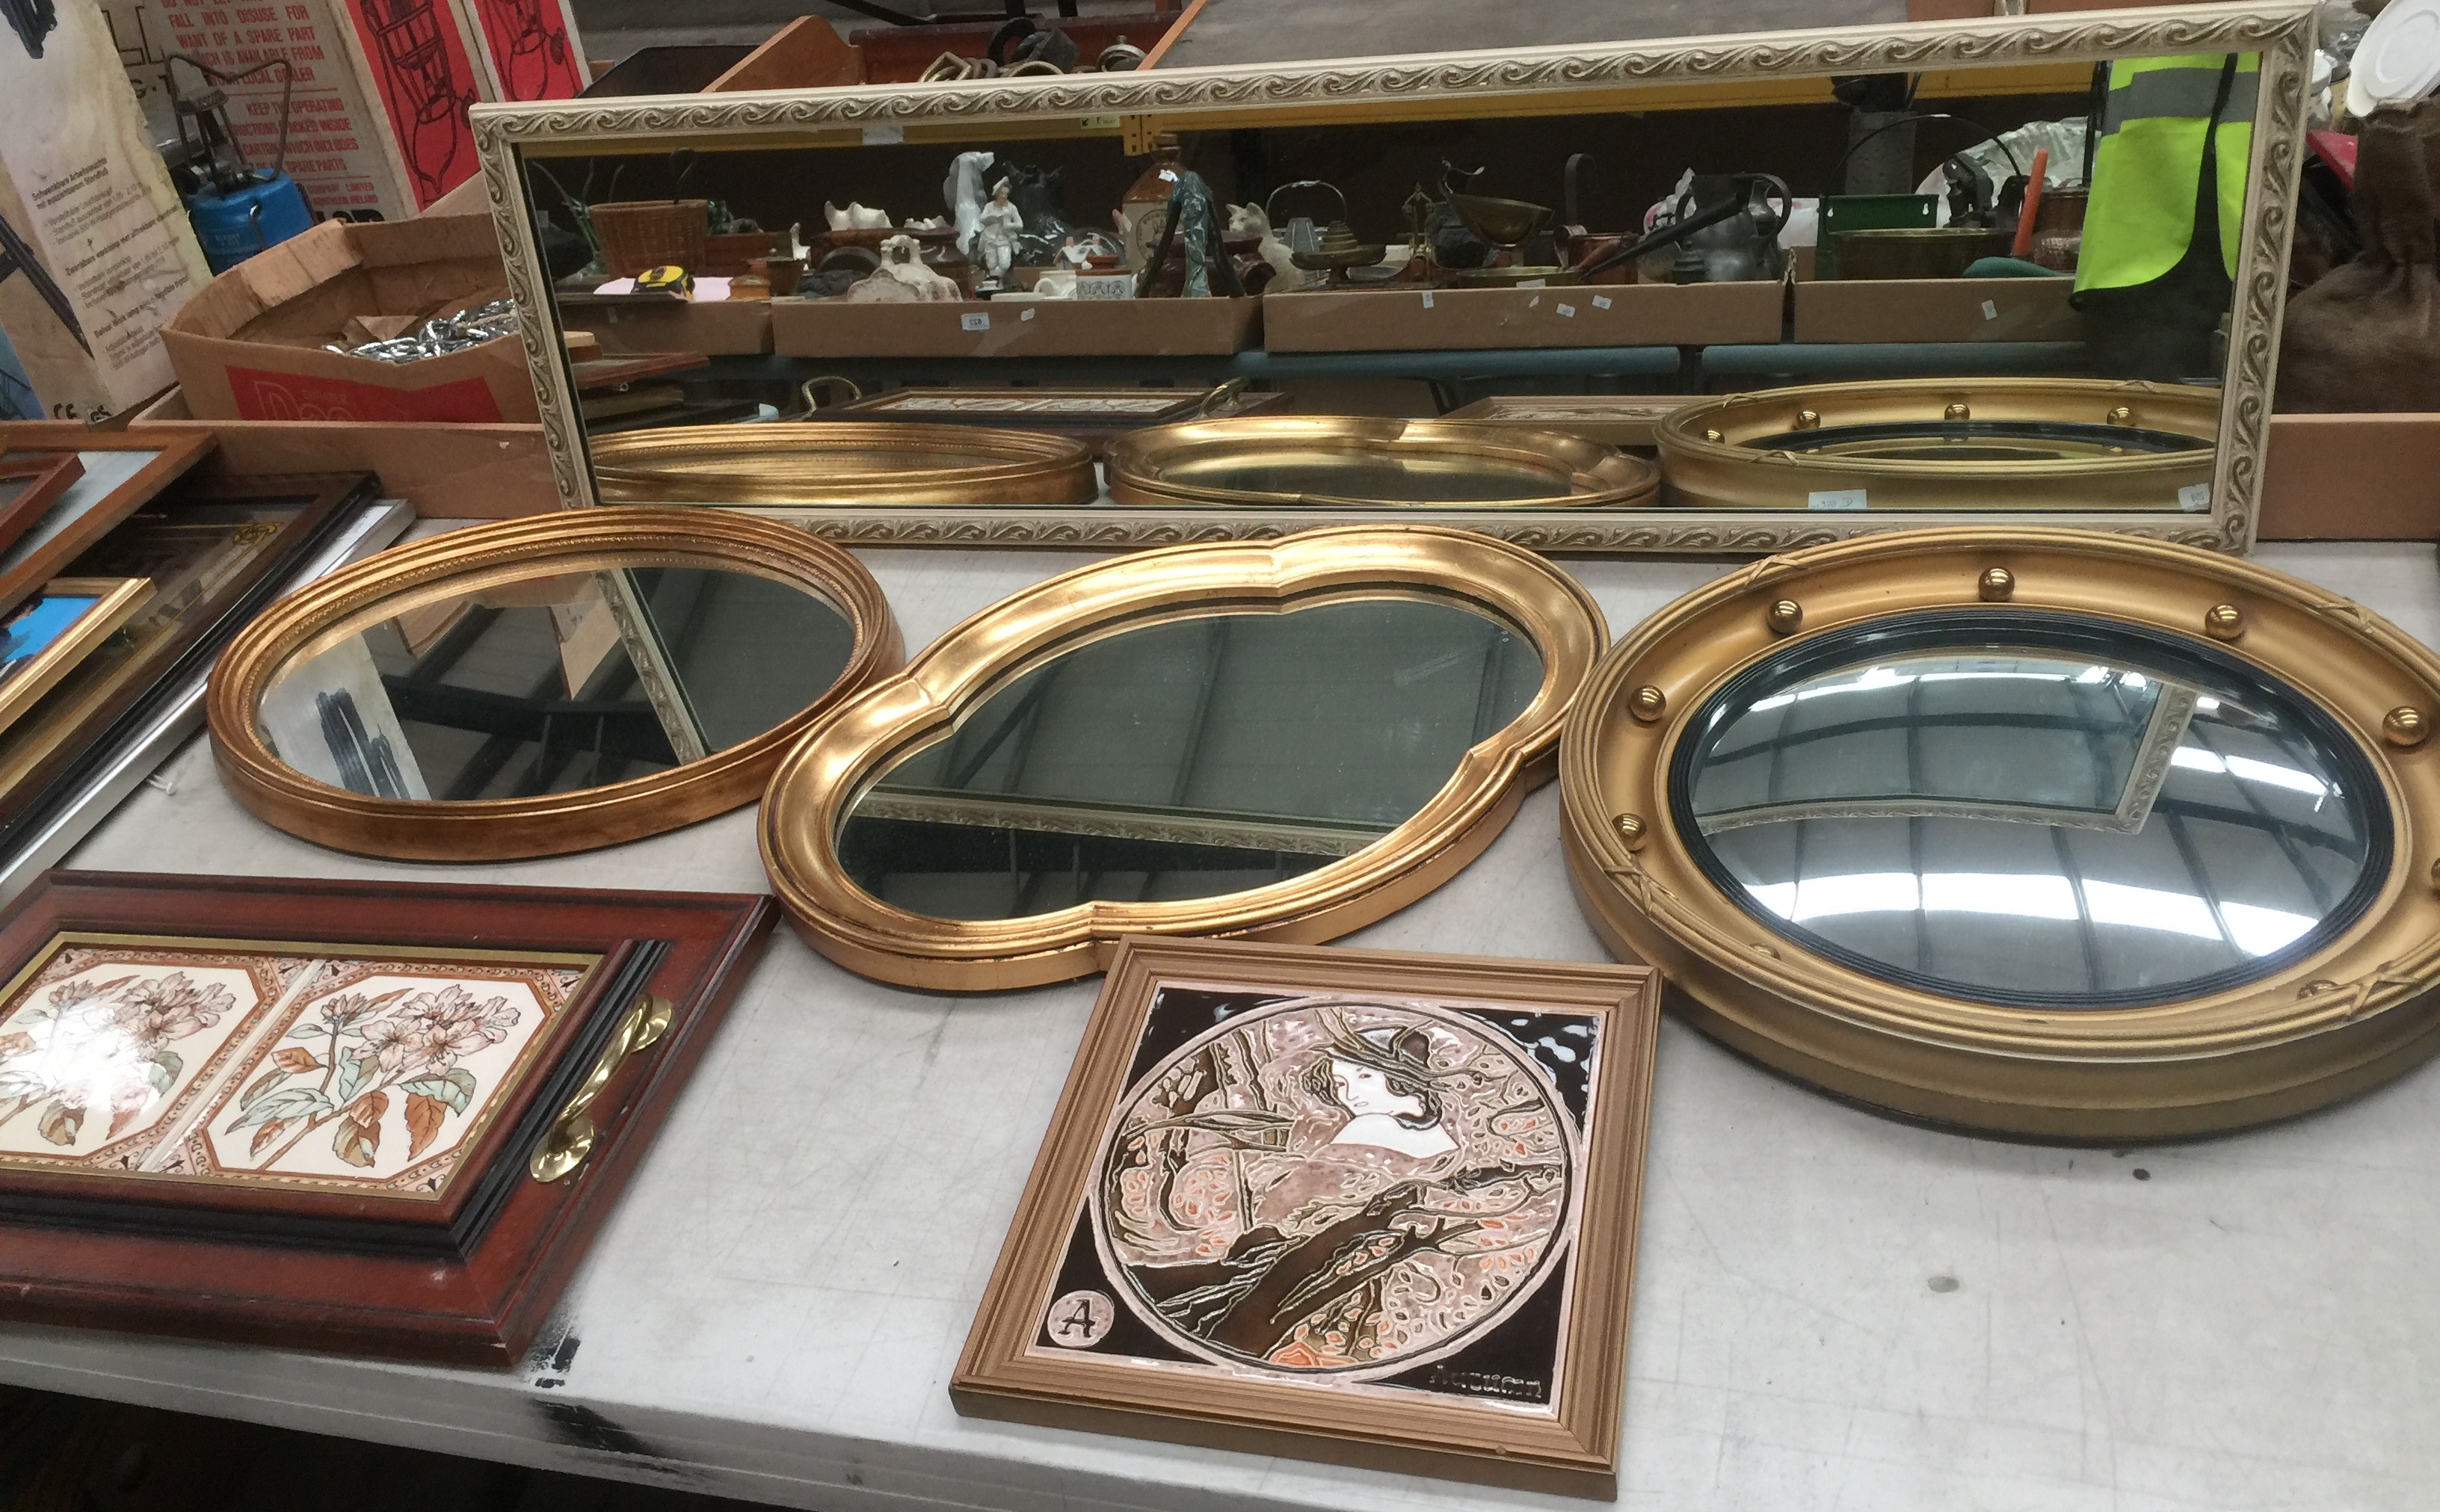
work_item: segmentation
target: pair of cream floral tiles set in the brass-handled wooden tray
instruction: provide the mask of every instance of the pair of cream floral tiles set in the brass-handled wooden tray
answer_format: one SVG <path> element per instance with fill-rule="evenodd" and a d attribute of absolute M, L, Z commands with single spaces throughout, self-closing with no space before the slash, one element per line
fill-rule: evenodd
<path fill-rule="evenodd" d="M 0 1166 L 439 1197 L 595 963 L 63 934 L 0 1000 Z"/>

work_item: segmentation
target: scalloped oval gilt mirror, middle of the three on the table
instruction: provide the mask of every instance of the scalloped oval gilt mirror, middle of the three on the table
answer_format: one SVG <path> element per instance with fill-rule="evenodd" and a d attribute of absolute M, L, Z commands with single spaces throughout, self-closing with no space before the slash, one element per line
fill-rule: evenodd
<path fill-rule="evenodd" d="M 1466 532 L 1098 563 L 825 719 L 764 861 L 815 949 L 930 988 L 1083 975 L 1120 934 L 1330 939 L 1498 834 L 1603 641 Z"/>

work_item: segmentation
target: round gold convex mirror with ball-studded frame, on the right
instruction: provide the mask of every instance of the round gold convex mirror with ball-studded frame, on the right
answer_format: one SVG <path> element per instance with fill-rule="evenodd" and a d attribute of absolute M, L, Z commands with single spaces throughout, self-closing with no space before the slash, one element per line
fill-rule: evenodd
<path fill-rule="evenodd" d="M 1937 783 L 1920 780 L 1893 788 L 1911 807 L 1893 810 L 1886 797 L 1857 805 L 1840 795 L 1796 817 L 1828 827 L 1862 817 L 1881 824 L 1884 839 L 1901 834 L 1889 829 L 1891 822 L 1906 824 L 1903 844 L 1915 849 L 1896 851 L 1889 863 L 1896 871 L 1828 878 L 1847 888 L 1845 902 L 1828 895 L 1820 905 L 1806 902 L 1803 883 L 1771 895 L 1769 883 L 1754 880 L 1742 883 L 1745 897 L 1732 897 L 1737 878 L 1715 863 L 1720 836 L 1749 817 L 1732 815 L 1728 805 L 1688 802 L 1688 773 L 1701 771 L 1693 763 L 1720 751 L 1720 732 L 1752 710 L 1774 710 L 1774 729 L 1786 732 L 1798 719 L 1776 710 L 1810 697 L 1835 693 L 1859 707 L 1867 700 L 1852 697 L 1857 690 L 1889 693 L 1908 680 L 1918 685 L 1908 697 L 1928 697 L 1920 688 L 1932 678 L 1911 676 L 1893 656 L 1903 656 L 1906 627 L 1945 622 L 1989 629 L 1976 641 L 1981 649 L 1964 663 L 1942 663 L 1950 671 L 1935 673 L 1940 678 L 2101 685 L 2113 676 L 2106 671 L 2111 656 L 2137 663 L 2184 658 L 2223 668 L 2257 688 L 2259 700 L 2228 712 L 2220 697 L 2196 697 L 2191 688 L 2172 700 L 2174 685 L 2155 678 L 2145 717 L 2133 719 L 2120 741 L 2125 758 L 2113 758 L 2111 783 L 2123 780 L 2130 795 L 2142 790 L 2135 812 L 2125 800 L 2111 812 L 2115 788 L 2094 800 L 2094 812 L 2067 819 L 2057 810 L 2050 817 L 2001 812 L 2025 805 L 1989 800 L 1920 802 L 1918 795 L 1937 790 Z M 2086 651 L 2047 668 L 1989 651 L 2052 634 L 2081 637 Z M 1810 683 L 1769 683 L 1774 668 L 1801 666 L 1808 644 L 1820 651 L 1815 661 L 1828 673 Z M 2111 644 L 2152 651 L 2113 654 Z M 1850 654 L 1850 646 L 1862 651 Z M 2091 666 L 2079 671 L 2079 656 Z M 2142 676 L 2118 678 L 2145 685 Z M 1757 693 L 1764 697 L 1747 702 Z M 2169 710 L 2172 702 L 2176 710 Z M 2159 739 L 2172 712 L 2176 729 Z M 2301 756 L 2218 756 L 2211 732 L 2184 734 L 2186 722 L 2198 729 L 2206 712 L 2216 722 L 2250 722 L 2257 736 L 2286 741 L 2281 749 Z M 2440 822 L 2440 746 L 2425 739 L 2435 715 L 2440 658 L 2430 649 L 2333 593 L 2230 556 L 2050 529 L 1867 537 L 1740 568 L 1681 597 L 1610 649 L 1569 715 L 1562 741 L 1566 861 L 1588 919 L 1613 951 L 1659 966 L 1676 1007 L 1693 1024 L 1798 1080 L 1881 1110 L 2018 1136 L 2108 1141 L 2211 1134 L 2320 1107 L 2379 1085 L 2440 1049 L 2440 995 L 2433 993 L 2440 983 L 2440 895 L 2430 839 Z M 1825 722 L 1830 717 L 1808 717 L 1806 739 L 1820 734 Z M 2037 722 L 2018 717 L 2015 724 Z M 1908 719 L 1881 719 L 1881 727 L 1884 741 L 1918 739 Z M 2298 729 L 2316 732 L 2320 744 L 2298 739 Z M 2079 729 L 2079 739 L 2086 734 L 2098 739 L 2101 732 Z M 2006 734 L 2006 741 L 2028 749 L 2037 739 L 2030 729 Z M 1767 744 L 1784 746 L 1786 736 L 1747 741 L 1740 751 L 1754 754 Z M 1906 761 L 1918 763 L 1908 771 L 1920 771 L 1925 754 L 1911 744 L 1906 751 Z M 1984 744 L 1976 758 L 1991 751 Z M 1776 761 L 1776 751 L 1762 754 Z M 1813 758 L 1828 756 L 1815 749 Z M 2311 776 L 2316 766 L 2325 776 Z M 1767 793 L 1779 802 L 1784 768 L 1769 771 Z M 1986 780 L 1991 768 L 1981 771 L 1984 778 L 1974 780 Z M 2208 793 L 2230 797 L 2196 800 L 2203 790 L 2186 788 L 2189 797 L 2172 805 L 2164 780 L 2179 778 L 2223 783 Z M 1942 780 L 1959 783 L 1954 776 Z M 2303 873 L 2306 863 L 2296 856 L 2316 836 L 2284 819 L 2286 810 L 2272 800 L 2303 805 L 2296 812 L 2352 805 L 2352 812 L 2372 817 L 2359 827 L 2369 839 L 2357 851 L 2357 873 L 2333 883 L 2338 890 L 2338 883 L 2352 880 L 2352 902 L 2279 927 L 2277 915 L 2240 912 L 2213 893 L 2211 856 L 2198 851 L 2216 844 L 2201 834 L 2211 827 L 2218 827 L 2216 834 L 2252 834 L 2259 856 L 2284 854 Z M 2106 883 L 2113 890 L 2098 893 L 2074 861 L 2091 854 L 2076 851 L 2086 841 L 2059 839 L 2069 834 L 2062 824 L 2094 836 L 2142 834 L 2152 810 L 2162 819 L 2155 829 L 2167 836 L 2159 851 L 2164 875 L 2184 866 L 2179 875 L 2191 875 L 2201 897 L 2123 883 Z M 2047 863 L 2006 875 L 1935 875 L 1923 849 L 1932 839 L 1923 834 L 1957 817 L 1989 824 L 1984 834 L 2008 829 L 2054 846 L 2067 875 L 2033 875 Z M 2050 827 L 2050 836 L 2040 824 Z M 2169 839 L 2174 849 L 2167 849 Z M 1793 834 L 1793 841 L 1798 866 L 1789 875 L 1803 878 L 1806 836 Z M 2313 863 L 2323 866 L 2323 858 L 2316 854 Z M 1937 907 L 2057 919 L 2059 929 L 2074 932 L 2072 939 L 2086 941 L 2086 954 L 2096 949 L 2098 924 L 2135 924 L 2140 929 L 2125 932 L 2111 949 L 2135 958 L 2128 954 L 2128 941 L 2135 941 L 2145 954 L 2125 971 L 2152 973 L 2159 983 L 2174 973 L 2142 961 L 2172 954 L 2179 932 L 2216 932 L 2230 954 L 2250 961 L 2242 971 L 2196 978 L 2201 985 L 2191 995 L 2179 995 L 2172 983 L 2079 1002 L 2074 993 L 2011 993 L 2006 973 L 1993 975 L 1989 990 L 1957 988 L 1962 968 L 1954 958 L 1935 980 L 1823 944 L 1815 934 L 1835 922 L 1815 915 L 1879 907 L 1906 922 L 1915 932 L 1911 939 L 1935 939 L 1925 912 L 1935 907 L 1935 883 L 1950 893 Z M 1874 890 L 1881 893 L 1876 902 L 1857 902 Z M 2047 900 L 2050 893 L 2059 897 Z M 1911 922 L 1906 910 L 1915 910 Z M 2274 922 L 2272 934 L 2247 944 L 2242 932 L 2259 929 L 2262 919 Z M 1840 939 L 1854 939 L 1854 929 Z M 1911 949 L 1920 963 L 1925 946 Z M 2011 971 L 2037 975 L 2018 956 Z"/>

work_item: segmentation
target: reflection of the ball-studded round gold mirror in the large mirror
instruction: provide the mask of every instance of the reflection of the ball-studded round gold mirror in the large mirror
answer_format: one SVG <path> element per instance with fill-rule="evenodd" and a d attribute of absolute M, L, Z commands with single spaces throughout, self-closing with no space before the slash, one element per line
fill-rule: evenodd
<path fill-rule="evenodd" d="M 2103 378 L 1813 383 L 1662 419 L 1669 502 L 1713 510 L 2211 510 L 2220 390 Z"/>

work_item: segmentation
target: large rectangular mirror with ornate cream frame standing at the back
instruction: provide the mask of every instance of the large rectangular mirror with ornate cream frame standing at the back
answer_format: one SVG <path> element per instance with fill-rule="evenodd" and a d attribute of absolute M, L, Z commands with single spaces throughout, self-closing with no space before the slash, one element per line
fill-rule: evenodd
<path fill-rule="evenodd" d="M 476 137 L 571 507 L 871 544 L 1393 515 L 1759 554 L 2006 517 L 2245 551 L 2311 49 L 2303 2 L 2174 5 L 481 105 Z M 2194 215 L 2079 251 L 2064 185 L 2147 132 L 2196 139 Z M 2023 212 L 2035 151 L 2062 188 Z M 1147 200 L 1164 168 L 1208 212 Z M 664 468 L 671 419 L 734 439 Z M 876 422 L 1064 434 L 1100 488 Z M 888 488 L 822 497 L 849 476 Z"/>

